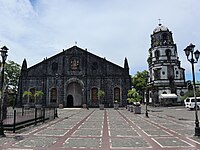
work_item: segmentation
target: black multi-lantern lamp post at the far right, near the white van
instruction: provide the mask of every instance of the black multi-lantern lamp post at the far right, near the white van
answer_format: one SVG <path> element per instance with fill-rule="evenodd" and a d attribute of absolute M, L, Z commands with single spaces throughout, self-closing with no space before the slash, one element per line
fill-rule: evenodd
<path fill-rule="evenodd" d="M 195 99 L 195 136 L 200 136 L 199 119 L 198 119 L 198 111 L 197 111 L 195 74 L 194 74 L 194 64 L 198 62 L 200 52 L 198 50 L 194 52 L 194 47 L 195 45 L 190 44 L 184 49 L 184 51 L 185 51 L 185 55 L 187 56 L 187 60 L 192 65 L 193 92 L 194 92 L 194 99 Z"/>

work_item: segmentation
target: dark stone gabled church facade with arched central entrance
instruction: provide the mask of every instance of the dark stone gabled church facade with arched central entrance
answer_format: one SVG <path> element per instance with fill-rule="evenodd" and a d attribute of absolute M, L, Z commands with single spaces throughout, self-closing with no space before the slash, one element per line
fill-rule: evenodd
<path fill-rule="evenodd" d="M 120 67 L 87 49 L 73 46 L 29 68 L 27 61 L 23 61 L 17 105 L 34 105 L 35 98 L 23 97 L 23 93 L 42 91 L 40 104 L 44 106 L 97 107 L 103 103 L 105 107 L 112 107 L 115 101 L 125 106 L 130 84 L 126 58 L 124 67 Z M 105 92 L 101 101 L 99 90 Z"/>

